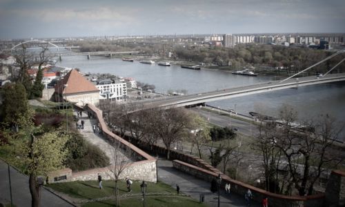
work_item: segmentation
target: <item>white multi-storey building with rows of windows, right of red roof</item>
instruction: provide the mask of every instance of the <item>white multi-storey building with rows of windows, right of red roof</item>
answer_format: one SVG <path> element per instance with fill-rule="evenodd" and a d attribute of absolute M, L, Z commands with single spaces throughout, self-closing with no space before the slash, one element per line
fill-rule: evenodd
<path fill-rule="evenodd" d="M 99 99 L 111 99 L 121 101 L 127 97 L 127 83 L 124 81 L 112 81 L 104 79 L 97 82 Z"/>

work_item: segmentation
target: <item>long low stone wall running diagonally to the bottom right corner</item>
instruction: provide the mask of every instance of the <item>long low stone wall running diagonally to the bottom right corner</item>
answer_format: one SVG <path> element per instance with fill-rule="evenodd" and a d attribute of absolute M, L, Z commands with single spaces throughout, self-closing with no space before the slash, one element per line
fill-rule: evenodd
<path fill-rule="evenodd" d="M 219 173 L 199 168 L 191 164 L 187 164 L 183 161 L 174 160 L 172 161 L 174 168 L 186 172 L 200 179 L 206 181 L 212 181 Z M 231 179 L 227 175 L 221 174 L 221 186 L 224 188 L 226 183 L 230 183 L 231 192 L 237 193 L 238 195 L 244 195 L 248 189 L 253 193 L 253 199 L 261 202 L 264 197 L 268 197 L 270 206 L 282 206 L 282 207 L 322 207 L 324 201 L 324 194 L 312 195 L 312 196 L 286 196 L 270 193 L 266 190 L 244 184 L 241 181 Z"/>

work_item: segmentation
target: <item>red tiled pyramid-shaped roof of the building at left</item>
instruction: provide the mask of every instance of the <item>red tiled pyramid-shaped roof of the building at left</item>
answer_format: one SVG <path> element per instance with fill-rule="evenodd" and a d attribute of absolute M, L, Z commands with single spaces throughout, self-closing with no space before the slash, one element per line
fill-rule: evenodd
<path fill-rule="evenodd" d="M 68 84 L 67 88 L 63 87 L 64 84 Z M 58 87 L 59 86 L 59 87 Z M 67 89 L 67 92 L 66 92 Z M 75 69 L 70 70 L 68 74 L 59 81 L 55 86 L 55 92 L 61 94 L 74 94 L 83 92 L 99 92 L 98 88 L 86 78 L 84 78 Z"/>

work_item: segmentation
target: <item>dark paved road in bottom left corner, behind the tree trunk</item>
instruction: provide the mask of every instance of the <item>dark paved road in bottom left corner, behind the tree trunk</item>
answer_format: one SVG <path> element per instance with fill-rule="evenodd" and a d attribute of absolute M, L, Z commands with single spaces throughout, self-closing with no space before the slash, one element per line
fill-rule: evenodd
<path fill-rule="evenodd" d="M 12 200 L 15 206 L 31 206 L 31 195 L 29 190 L 29 177 L 19 173 L 10 167 Z M 0 203 L 10 204 L 10 188 L 8 181 L 8 166 L 0 160 Z M 41 190 L 41 206 L 72 206 L 67 201 L 50 193 L 50 191 L 42 188 Z"/>

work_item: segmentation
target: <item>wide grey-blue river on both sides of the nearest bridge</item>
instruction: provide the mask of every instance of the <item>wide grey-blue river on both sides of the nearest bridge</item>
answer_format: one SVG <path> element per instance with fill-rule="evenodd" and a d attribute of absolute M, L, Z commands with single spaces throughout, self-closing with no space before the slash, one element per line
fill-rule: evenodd
<path fill-rule="evenodd" d="M 165 67 L 95 56 L 92 56 L 91 59 L 82 56 L 63 57 L 62 61 L 57 62 L 57 66 L 79 68 L 84 73 L 110 73 L 120 77 L 132 77 L 140 82 L 154 84 L 156 91 L 162 93 L 166 93 L 170 89 L 184 89 L 191 94 L 246 86 L 275 79 L 275 77 L 262 75 L 246 77 L 219 70 L 188 70 L 180 68 L 180 66 Z M 344 125 L 345 83 L 304 86 L 297 89 L 213 101 L 208 104 L 225 109 L 233 108 L 244 115 L 255 111 L 275 117 L 279 115 L 279 108 L 288 104 L 298 112 L 301 120 L 328 114 L 335 117 L 339 124 Z"/>

